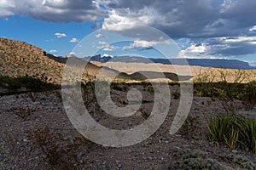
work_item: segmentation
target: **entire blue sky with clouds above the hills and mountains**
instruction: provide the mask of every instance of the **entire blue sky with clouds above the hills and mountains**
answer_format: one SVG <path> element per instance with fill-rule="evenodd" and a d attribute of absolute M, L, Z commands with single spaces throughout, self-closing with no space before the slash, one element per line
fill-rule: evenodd
<path fill-rule="evenodd" d="M 56 56 L 160 58 L 171 48 L 167 57 L 256 65 L 255 8 L 255 0 L 0 0 L 0 37 Z"/>

